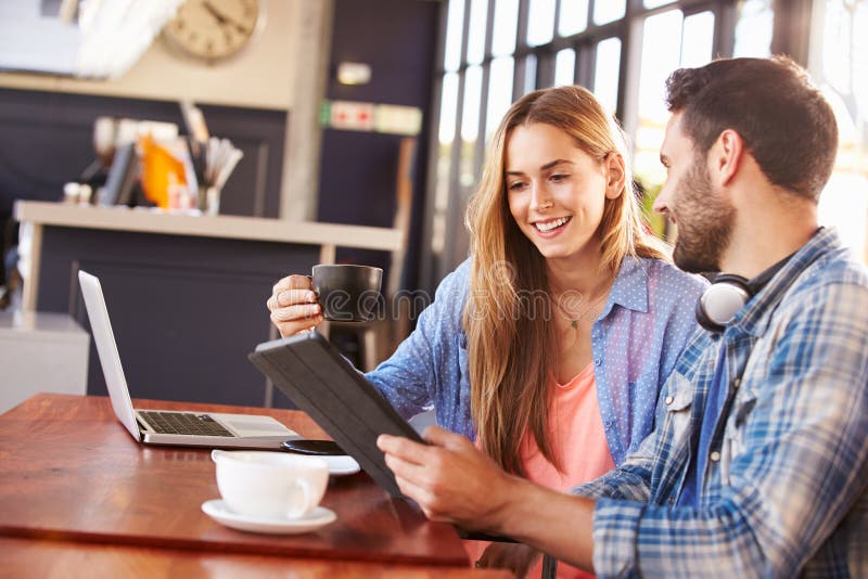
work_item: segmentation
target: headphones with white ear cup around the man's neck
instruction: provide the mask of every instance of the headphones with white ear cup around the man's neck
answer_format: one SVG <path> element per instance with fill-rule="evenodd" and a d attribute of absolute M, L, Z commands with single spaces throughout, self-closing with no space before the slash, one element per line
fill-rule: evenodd
<path fill-rule="evenodd" d="M 697 322 L 709 332 L 722 333 L 736 313 L 787 265 L 789 255 L 752 280 L 718 273 L 697 300 Z"/>

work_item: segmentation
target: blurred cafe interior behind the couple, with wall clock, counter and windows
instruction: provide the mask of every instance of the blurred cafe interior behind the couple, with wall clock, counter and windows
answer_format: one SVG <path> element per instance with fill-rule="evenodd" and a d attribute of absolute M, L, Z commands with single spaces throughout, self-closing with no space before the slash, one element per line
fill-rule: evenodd
<path fill-rule="evenodd" d="M 387 314 L 329 332 L 359 368 L 387 357 L 465 259 L 486 142 L 522 94 L 591 89 L 650 208 L 667 75 L 775 53 L 834 107 L 820 217 L 866 259 L 868 0 L 3 0 L 0 412 L 105 394 L 79 269 L 133 397 L 289 407 L 246 360 L 277 337 L 272 284 L 383 268 Z"/>

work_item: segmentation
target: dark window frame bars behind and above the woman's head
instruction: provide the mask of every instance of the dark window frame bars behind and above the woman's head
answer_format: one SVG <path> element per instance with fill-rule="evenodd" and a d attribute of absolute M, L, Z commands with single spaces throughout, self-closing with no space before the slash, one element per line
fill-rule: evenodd
<path fill-rule="evenodd" d="M 447 35 L 448 11 L 451 2 L 463 2 L 462 39 L 461 39 L 461 60 L 457 70 L 446 70 L 444 67 L 445 42 Z M 464 227 L 464 210 L 467 202 L 474 192 L 478 181 L 482 165 L 486 152 L 486 125 L 488 119 L 487 105 L 489 97 L 488 80 L 490 78 L 493 54 L 493 36 L 495 23 L 495 9 L 497 0 L 475 0 L 486 1 L 486 38 L 484 56 L 478 66 L 482 67 L 482 89 L 480 94 L 478 129 L 476 141 L 473 146 L 473 185 L 462 185 L 460 182 L 460 166 L 462 163 L 462 138 L 461 124 L 463 120 L 463 100 L 465 75 L 469 66 L 467 59 L 468 35 L 470 27 L 470 15 L 474 0 L 446 0 L 442 5 L 441 18 L 441 39 L 438 61 L 434 72 L 434 92 L 433 92 L 433 117 L 431 119 L 432 130 L 429 146 L 429 183 L 425 195 L 425 210 L 423 223 L 423 246 L 420 268 L 420 285 L 423 288 L 433 290 L 436 284 L 458 263 L 460 263 L 468 253 L 469 235 Z M 534 87 L 542 88 L 552 86 L 554 81 L 556 59 L 560 50 L 573 49 L 575 51 L 574 81 L 582 86 L 595 90 L 593 80 L 596 75 L 597 46 L 602 40 L 616 37 L 621 40 L 621 66 L 618 70 L 618 87 L 615 115 L 631 139 L 636 132 L 638 124 L 638 98 L 639 98 L 639 73 L 641 66 L 640 49 L 642 44 L 642 23 L 644 18 L 661 14 L 671 10 L 680 10 L 685 17 L 692 14 L 710 11 L 714 14 L 714 38 L 712 41 L 712 53 L 715 56 L 731 56 L 735 49 L 736 24 L 738 20 L 739 0 L 681 0 L 673 1 L 656 8 L 647 9 L 642 0 L 626 0 L 625 12 L 622 18 L 604 24 L 593 23 L 593 9 L 596 1 L 588 0 L 587 26 L 585 29 L 570 35 L 559 36 L 559 20 L 562 2 L 571 0 L 556 0 L 554 20 L 552 24 L 552 39 L 544 44 L 529 46 L 527 43 L 528 12 L 532 0 L 518 0 L 518 26 L 515 28 L 515 44 L 512 56 L 513 81 L 511 102 L 515 102 L 525 91 L 525 80 L 528 75 L 528 57 L 536 60 L 534 70 Z M 810 0 L 800 0 L 800 2 L 810 2 Z M 503 55 L 500 55 L 503 56 Z M 438 163 L 441 160 L 439 141 L 439 119 L 444 103 L 443 101 L 443 79 L 447 73 L 458 75 L 458 95 L 456 99 L 455 133 L 448 145 L 449 149 L 449 171 L 446 185 L 438 183 Z M 499 120 L 499 119 L 498 119 Z M 465 160 L 465 159 L 464 159 Z M 438 186 L 447 186 L 448 200 L 446 207 L 436 207 L 436 190 Z M 441 221 L 435 223 L 435 220 Z M 437 231 L 439 235 L 437 236 Z M 437 237 L 441 246 L 434 247 L 433 240 Z"/>

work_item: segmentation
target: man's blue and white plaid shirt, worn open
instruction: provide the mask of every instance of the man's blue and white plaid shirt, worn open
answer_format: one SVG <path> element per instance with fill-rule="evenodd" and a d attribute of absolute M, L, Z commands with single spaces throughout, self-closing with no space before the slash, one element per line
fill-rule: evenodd
<path fill-rule="evenodd" d="M 675 507 L 718 356 L 732 406 Z M 720 336 L 697 334 L 655 430 L 597 498 L 600 577 L 868 577 L 868 273 L 821 230 Z"/>

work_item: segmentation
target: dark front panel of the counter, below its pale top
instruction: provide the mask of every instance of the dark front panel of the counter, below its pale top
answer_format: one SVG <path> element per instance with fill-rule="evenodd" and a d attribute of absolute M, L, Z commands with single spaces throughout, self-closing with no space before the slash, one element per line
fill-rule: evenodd
<path fill-rule="evenodd" d="M 263 406 L 266 381 L 247 353 L 271 335 L 265 300 L 284 268 L 318 259 L 317 245 L 47 226 L 37 305 L 90 332 L 78 271 L 92 273 L 131 396 Z M 106 391 L 91 339 L 87 393 Z"/>

